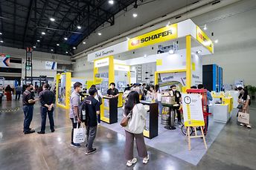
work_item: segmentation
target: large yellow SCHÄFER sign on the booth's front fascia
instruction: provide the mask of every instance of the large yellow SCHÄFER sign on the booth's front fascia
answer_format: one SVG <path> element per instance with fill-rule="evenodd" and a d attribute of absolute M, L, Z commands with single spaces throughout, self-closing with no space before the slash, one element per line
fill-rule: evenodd
<path fill-rule="evenodd" d="M 162 27 L 159 30 L 153 30 L 133 39 L 129 39 L 129 50 L 143 48 L 147 45 L 153 45 L 159 42 L 169 41 L 178 37 L 177 24 Z"/>

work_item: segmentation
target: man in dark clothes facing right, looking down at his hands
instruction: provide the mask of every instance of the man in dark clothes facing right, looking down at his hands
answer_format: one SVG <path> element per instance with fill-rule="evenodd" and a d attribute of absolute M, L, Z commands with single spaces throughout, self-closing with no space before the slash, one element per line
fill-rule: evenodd
<path fill-rule="evenodd" d="M 33 119 L 33 105 L 38 101 L 38 99 L 34 99 L 31 91 L 33 90 L 32 85 L 25 85 L 25 91 L 22 94 L 22 103 L 23 103 L 23 111 L 24 111 L 24 134 L 31 134 L 35 132 L 31 130 L 30 125 Z"/>

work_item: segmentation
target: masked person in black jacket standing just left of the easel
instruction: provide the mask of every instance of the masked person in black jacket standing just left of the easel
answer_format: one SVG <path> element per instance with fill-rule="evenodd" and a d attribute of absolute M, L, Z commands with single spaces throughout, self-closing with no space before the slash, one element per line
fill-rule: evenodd
<path fill-rule="evenodd" d="M 176 90 L 176 85 L 170 86 L 169 94 L 170 94 L 170 96 L 175 97 L 175 102 L 176 102 L 176 104 L 178 104 L 177 106 L 174 106 L 173 109 L 177 114 L 178 123 L 181 124 L 182 117 L 181 117 L 181 114 L 179 111 L 179 107 L 180 107 L 180 102 L 182 101 L 182 94 Z"/>

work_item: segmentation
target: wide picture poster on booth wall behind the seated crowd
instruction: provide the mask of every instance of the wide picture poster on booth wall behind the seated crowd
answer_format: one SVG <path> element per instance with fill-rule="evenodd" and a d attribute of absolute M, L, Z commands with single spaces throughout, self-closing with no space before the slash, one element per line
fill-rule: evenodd
<path fill-rule="evenodd" d="M 186 72 L 158 73 L 158 82 L 161 91 L 170 89 L 171 85 L 176 85 L 178 91 L 186 85 Z"/>

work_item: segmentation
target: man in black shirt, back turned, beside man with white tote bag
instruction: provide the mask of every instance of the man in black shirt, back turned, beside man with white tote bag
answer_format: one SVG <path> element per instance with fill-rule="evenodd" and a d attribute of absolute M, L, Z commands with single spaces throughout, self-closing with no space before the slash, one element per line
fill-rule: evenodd
<path fill-rule="evenodd" d="M 100 114 L 100 102 L 95 99 L 95 95 L 97 94 L 96 88 L 89 88 L 89 97 L 85 99 L 85 108 L 86 108 L 86 154 L 95 153 L 96 148 L 92 148 L 92 144 L 95 140 L 97 133 L 97 114 Z"/>

